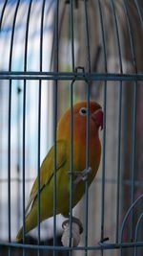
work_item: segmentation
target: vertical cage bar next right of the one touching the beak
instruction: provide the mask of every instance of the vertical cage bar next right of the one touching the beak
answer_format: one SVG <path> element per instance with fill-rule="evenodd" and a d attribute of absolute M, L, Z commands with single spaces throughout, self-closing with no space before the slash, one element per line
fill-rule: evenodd
<path fill-rule="evenodd" d="M 119 69 L 120 73 L 123 73 L 122 66 L 122 54 L 121 54 L 121 44 L 120 44 L 120 36 L 118 31 L 118 23 L 117 16 L 115 12 L 114 2 L 111 2 L 112 5 L 112 14 L 114 19 L 114 27 L 115 27 L 115 35 L 116 35 L 116 43 L 117 43 L 117 51 L 119 58 Z M 118 242 L 118 233 L 119 233 L 119 211 L 120 211 L 120 153 L 121 153 L 121 109 L 122 109 L 122 81 L 119 82 L 119 116 L 118 116 L 118 147 L 117 147 L 117 189 L 116 189 L 116 234 L 115 240 Z"/>

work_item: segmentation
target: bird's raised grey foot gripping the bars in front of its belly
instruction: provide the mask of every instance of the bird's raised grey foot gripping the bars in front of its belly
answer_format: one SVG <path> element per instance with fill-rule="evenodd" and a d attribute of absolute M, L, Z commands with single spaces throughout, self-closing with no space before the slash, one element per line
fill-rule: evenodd
<path fill-rule="evenodd" d="M 92 168 L 84 169 L 83 171 L 73 171 L 68 172 L 69 175 L 75 175 L 76 178 L 73 181 L 73 184 L 78 184 L 81 180 L 85 181 L 88 178 L 88 175 L 92 172 Z"/>

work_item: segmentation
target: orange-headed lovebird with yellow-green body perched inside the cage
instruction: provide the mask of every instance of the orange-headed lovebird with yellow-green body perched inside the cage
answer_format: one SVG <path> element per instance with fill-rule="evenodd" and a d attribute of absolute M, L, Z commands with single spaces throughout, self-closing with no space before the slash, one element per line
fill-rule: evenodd
<path fill-rule="evenodd" d="M 103 128 L 102 107 L 90 101 L 89 169 L 86 170 L 87 147 L 87 102 L 78 102 L 72 107 L 72 170 L 71 170 L 71 108 L 60 118 L 56 133 L 56 214 L 68 216 L 72 176 L 72 207 L 85 193 L 85 180 L 92 183 L 100 164 L 101 143 L 99 130 Z M 40 222 L 53 216 L 53 157 L 54 146 L 47 153 L 40 167 Z M 70 172 L 71 171 L 71 172 Z M 72 174 L 71 174 L 72 173 Z M 26 208 L 25 232 L 38 224 L 38 178 L 36 177 Z M 23 227 L 16 241 L 23 238 Z"/>

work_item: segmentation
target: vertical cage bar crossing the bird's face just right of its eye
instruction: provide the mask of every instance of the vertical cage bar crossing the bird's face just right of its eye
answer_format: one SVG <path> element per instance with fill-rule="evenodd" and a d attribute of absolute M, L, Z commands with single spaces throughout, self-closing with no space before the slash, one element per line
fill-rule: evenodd
<path fill-rule="evenodd" d="M 91 73 L 91 53 L 90 53 L 90 35 L 89 35 L 89 20 L 88 20 L 88 1 L 84 0 L 85 12 L 85 35 L 87 47 L 88 71 Z M 87 124 L 86 124 L 86 170 L 89 169 L 89 139 L 90 139 L 90 85 L 91 81 L 87 82 Z M 88 178 L 85 184 L 85 246 L 88 246 L 88 223 L 89 223 L 89 184 Z M 88 250 L 85 250 L 85 255 L 88 255 Z"/>

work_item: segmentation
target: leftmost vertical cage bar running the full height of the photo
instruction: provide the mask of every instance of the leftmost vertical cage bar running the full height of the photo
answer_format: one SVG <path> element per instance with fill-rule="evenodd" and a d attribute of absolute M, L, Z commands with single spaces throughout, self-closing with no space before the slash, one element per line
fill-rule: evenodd
<path fill-rule="evenodd" d="M 15 23 L 16 23 L 16 16 L 18 12 L 18 7 L 20 4 L 20 0 L 17 1 L 16 7 L 15 7 L 15 12 L 14 12 L 14 17 L 13 17 L 13 22 L 12 22 L 12 29 L 11 29 L 11 38 L 10 38 L 10 61 L 9 61 L 9 71 L 11 72 L 11 66 L 12 66 L 12 53 L 13 53 L 13 39 L 14 39 L 14 31 L 15 31 Z M 4 6 L 6 8 L 6 6 Z M 5 9 L 3 9 L 4 13 Z M 2 20 L 1 20 L 2 22 Z M 9 87 L 9 121 L 8 121 L 8 223 L 9 223 L 9 242 L 11 242 L 11 218 L 10 218 L 10 171 L 11 171 L 11 161 L 10 161 L 10 139 L 11 139 L 11 134 L 10 134 L 10 129 L 11 129 L 11 86 L 12 86 L 12 81 L 10 80 L 10 87 Z M 11 248 L 9 247 L 9 256 L 11 255 Z"/>

